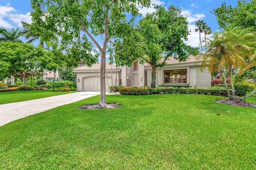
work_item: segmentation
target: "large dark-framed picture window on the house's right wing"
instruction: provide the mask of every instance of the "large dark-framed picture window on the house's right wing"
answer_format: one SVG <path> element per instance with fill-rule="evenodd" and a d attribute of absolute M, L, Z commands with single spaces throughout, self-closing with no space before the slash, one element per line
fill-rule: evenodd
<path fill-rule="evenodd" d="M 187 69 L 164 71 L 164 83 L 186 83 L 186 82 L 187 82 Z"/>

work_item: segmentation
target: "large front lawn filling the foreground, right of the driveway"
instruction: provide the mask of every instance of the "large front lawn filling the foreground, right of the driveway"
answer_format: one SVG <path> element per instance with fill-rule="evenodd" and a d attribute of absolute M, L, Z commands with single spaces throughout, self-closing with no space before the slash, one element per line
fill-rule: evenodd
<path fill-rule="evenodd" d="M 256 108 L 219 96 L 94 96 L 0 127 L 2 169 L 256 169 Z M 230 113 L 226 113 L 230 111 Z M 220 115 L 217 115 L 220 114 Z"/>

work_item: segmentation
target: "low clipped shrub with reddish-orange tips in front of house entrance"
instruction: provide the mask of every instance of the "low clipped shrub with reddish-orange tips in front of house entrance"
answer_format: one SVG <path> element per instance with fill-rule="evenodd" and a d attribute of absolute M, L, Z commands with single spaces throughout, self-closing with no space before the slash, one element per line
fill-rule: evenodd
<path fill-rule="evenodd" d="M 123 95 L 149 95 L 150 92 L 146 88 L 137 88 L 137 87 L 123 87 L 119 90 L 120 94 Z"/>

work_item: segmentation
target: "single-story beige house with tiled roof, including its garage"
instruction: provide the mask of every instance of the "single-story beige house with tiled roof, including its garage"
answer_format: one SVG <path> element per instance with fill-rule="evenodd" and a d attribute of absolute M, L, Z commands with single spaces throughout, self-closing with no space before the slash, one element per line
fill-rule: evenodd
<path fill-rule="evenodd" d="M 189 56 L 184 62 L 170 57 L 166 61 L 166 66 L 156 68 L 156 86 L 176 85 L 176 86 L 211 86 L 212 76 L 208 68 L 202 71 L 202 58 L 200 56 Z M 130 67 L 123 66 L 122 69 L 116 68 L 106 62 L 106 90 L 109 82 L 117 79 L 116 85 L 124 86 L 151 86 L 152 68 L 150 64 L 140 64 L 134 61 Z M 112 74 L 111 74 L 112 70 Z M 81 66 L 73 69 L 77 73 L 77 89 L 80 91 L 100 90 L 100 63 L 93 64 L 92 67 Z M 116 73 L 118 76 L 116 76 Z M 107 84 L 108 82 L 108 84 Z M 111 85 L 112 85 L 111 84 Z M 114 84 L 113 84 L 114 85 Z"/>

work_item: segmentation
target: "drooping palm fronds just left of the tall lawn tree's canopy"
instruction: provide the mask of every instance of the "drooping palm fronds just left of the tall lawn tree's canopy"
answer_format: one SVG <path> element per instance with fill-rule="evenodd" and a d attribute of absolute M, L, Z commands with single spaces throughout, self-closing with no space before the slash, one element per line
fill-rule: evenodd
<path fill-rule="evenodd" d="M 21 23 L 22 23 L 22 28 L 23 28 L 22 35 L 24 35 L 26 39 L 29 39 L 27 41 L 27 43 L 32 43 L 32 42 L 39 39 L 40 40 L 40 45 L 43 48 L 44 47 L 44 42 L 40 39 L 39 34 L 35 34 L 35 33 L 32 33 L 30 31 L 30 28 L 29 28 L 30 23 L 27 23 L 25 21 L 21 21 Z"/>

